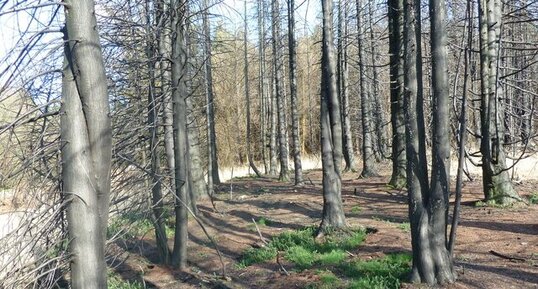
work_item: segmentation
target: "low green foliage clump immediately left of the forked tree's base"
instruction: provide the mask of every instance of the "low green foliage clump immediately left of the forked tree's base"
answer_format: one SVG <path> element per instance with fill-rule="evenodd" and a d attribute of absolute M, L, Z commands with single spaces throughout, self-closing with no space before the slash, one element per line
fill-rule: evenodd
<path fill-rule="evenodd" d="M 406 278 L 411 267 L 407 253 L 389 254 L 371 261 L 355 261 L 341 266 L 344 275 L 354 281 L 350 288 L 400 288 L 400 280 Z"/>

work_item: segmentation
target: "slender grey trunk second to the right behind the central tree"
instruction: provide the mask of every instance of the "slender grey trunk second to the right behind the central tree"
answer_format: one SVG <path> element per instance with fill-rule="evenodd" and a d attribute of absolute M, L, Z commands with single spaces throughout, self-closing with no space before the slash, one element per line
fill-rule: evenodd
<path fill-rule="evenodd" d="M 372 97 L 366 84 L 366 58 L 364 57 L 364 29 L 362 25 L 363 11 L 361 0 L 357 0 L 357 42 L 359 51 L 359 90 L 361 98 L 361 124 L 362 124 L 362 172 L 361 177 L 367 178 L 377 175 L 374 154 L 374 131 L 371 128 Z"/>

